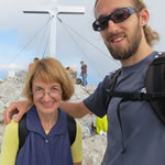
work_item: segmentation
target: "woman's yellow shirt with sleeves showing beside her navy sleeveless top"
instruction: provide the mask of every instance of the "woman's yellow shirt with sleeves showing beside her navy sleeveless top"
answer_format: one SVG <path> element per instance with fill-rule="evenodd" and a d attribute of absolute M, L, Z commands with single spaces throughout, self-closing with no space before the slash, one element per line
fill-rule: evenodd
<path fill-rule="evenodd" d="M 74 144 L 70 146 L 74 163 L 81 162 L 81 131 L 79 123 L 77 124 L 77 134 Z M 16 154 L 19 150 L 19 124 L 13 120 L 6 127 L 0 154 L 0 165 L 15 165 Z M 48 134 L 48 132 L 46 132 Z"/>

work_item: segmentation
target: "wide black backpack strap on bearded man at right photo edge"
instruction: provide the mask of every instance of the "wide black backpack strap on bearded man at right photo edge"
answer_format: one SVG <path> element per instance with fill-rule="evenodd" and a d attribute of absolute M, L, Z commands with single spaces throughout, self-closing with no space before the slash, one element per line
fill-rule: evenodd
<path fill-rule="evenodd" d="M 165 123 L 165 53 L 152 62 L 145 84 L 146 92 L 153 95 L 150 103 L 160 120 Z"/>

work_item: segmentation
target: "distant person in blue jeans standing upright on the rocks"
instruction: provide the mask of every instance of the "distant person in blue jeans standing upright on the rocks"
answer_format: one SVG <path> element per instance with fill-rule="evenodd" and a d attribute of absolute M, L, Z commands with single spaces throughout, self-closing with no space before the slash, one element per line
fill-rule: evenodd
<path fill-rule="evenodd" d="M 82 86 L 87 86 L 87 76 L 88 76 L 88 70 L 87 70 L 87 65 L 85 64 L 85 62 L 80 62 L 80 76 L 81 76 L 81 80 L 82 80 Z"/>

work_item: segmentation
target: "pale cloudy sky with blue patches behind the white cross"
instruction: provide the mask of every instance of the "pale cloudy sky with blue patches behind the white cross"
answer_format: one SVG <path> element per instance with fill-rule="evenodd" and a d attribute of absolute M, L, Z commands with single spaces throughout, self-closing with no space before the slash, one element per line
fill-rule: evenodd
<path fill-rule="evenodd" d="M 144 0 L 150 22 L 160 33 L 156 51 L 165 50 L 165 1 Z M 120 67 L 112 59 L 98 32 L 92 31 L 95 0 L 58 0 L 58 6 L 85 7 L 85 14 L 59 14 L 56 19 L 56 58 L 80 74 L 80 62 L 88 65 L 88 82 L 98 85 L 106 74 Z M 50 10 L 55 0 L 0 0 L 0 78 L 8 70 L 26 70 L 34 57 L 48 56 L 48 14 L 26 14 L 23 10 Z"/>

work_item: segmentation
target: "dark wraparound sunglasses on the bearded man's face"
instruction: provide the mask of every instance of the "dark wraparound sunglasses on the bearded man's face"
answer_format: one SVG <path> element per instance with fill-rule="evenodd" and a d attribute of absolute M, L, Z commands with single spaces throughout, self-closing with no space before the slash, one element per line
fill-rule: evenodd
<path fill-rule="evenodd" d="M 114 23 L 120 23 L 127 20 L 132 15 L 132 13 L 138 12 L 138 9 L 134 9 L 132 7 L 121 8 L 113 11 L 111 14 L 97 19 L 92 23 L 92 28 L 95 31 L 103 31 L 108 28 L 108 21 L 112 20 Z"/>

